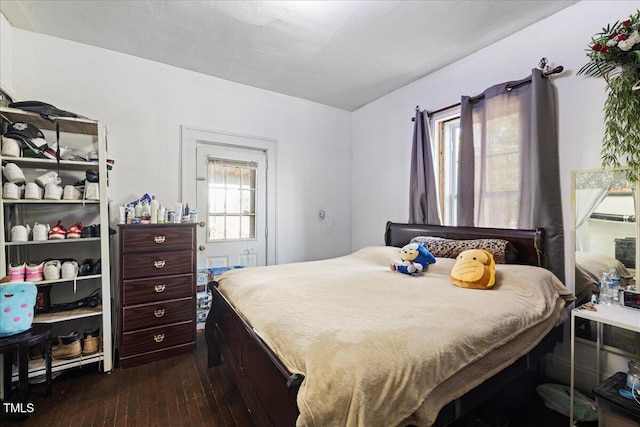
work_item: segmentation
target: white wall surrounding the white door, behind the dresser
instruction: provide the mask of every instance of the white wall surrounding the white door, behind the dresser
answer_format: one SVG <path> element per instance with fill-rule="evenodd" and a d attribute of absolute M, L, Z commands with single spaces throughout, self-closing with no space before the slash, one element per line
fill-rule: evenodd
<path fill-rule="evenodd" d="M 19 100 L 106 123 L 116 158 L 115 205 L 144 193 L 165 204 L 180 201 L 181 125 L 275 139 L 278 262 L 351 250 L 349 112 L 18 28 L 12 33 L 11 86 Z"/>

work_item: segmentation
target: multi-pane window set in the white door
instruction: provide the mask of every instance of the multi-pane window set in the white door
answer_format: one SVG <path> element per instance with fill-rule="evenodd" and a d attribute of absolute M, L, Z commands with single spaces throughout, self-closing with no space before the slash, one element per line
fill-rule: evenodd
<path fill-rule="evenodd" d="M 207 241 L 256 238 L 254 162 L 210 158 Z"/>

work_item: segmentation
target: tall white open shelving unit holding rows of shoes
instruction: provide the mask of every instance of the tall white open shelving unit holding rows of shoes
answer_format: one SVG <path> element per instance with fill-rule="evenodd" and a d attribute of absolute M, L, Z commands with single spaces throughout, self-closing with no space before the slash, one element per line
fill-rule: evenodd
<path fill-rule="evenodd" d="M 80 264 L 83 259 L 100 259 L 100 274 L 78 276 L 75 279 L 42 280 L 36 282 L 38 286 L 51 286 L 52 304 L 68 303 L 79 300 L 91 294 L 96 289 L 101 290 L 101 305 L 90 308 L 83 307 L 68 311 L 37 313 L 34 323 L 53 324 L 53 336 L 67 335 L 71 330 L 77 330 L 81 336 L 82 329 L 100 327 L 102 346 L 97 354 L 81 356 L 69 360 L 54 360 L 52 370 L 61 371 L 77 366 L 99 362 L 99 368 L 104 372 L 113 369 L 113 328 L 112 328 L 112 298 L 111 267 L 110 267 L 110 233 L 109 233 L 109 202 L 108 202 L 108 169 L 106 128 L 99 121 L 88 119 L 57 118 L 54 122 L 40 117 L 38 114 L 18 109 L 0 107 L 0 115 L 9 122 L 31 123 L 45 133 L 45 139 L 51 143 L 55 141 L 56 123 L 60 130 L 60 145 L 73 149 L 74 153 L 85 154 L 97 151 L 99 161 L 77 161 L 33 159 L 23 157 L 0 157 L 3 164 L 15 163 L 20 167 L 27 179 L 33 179 L 43 173 L 58 171 L 62 178 L 62 185 L 71 185 L 75 181 L 85 178 L 85 172 L 93 169 L 98 171 L 100 200 L 6 200 L 0 199 L 0 246 L 3 255 L 0 257 L 0 274 L 7 275 L 9 264 L 18 265 L 23 262 L 40 263 L 46 259 L 75 259 Z M 79 239 L 45 240 L 11 242 L 11 228 L 15 225 L 34 222 L 55 225 L 57 220 L 69 228 L 80 221 L 83 225 L 100 224 L 101 237 Z M 54 342 L 55 346 L 57 343 Z M 32 360 L 29 363 L 29 377 L 44 374 L 44 359 Z M 0 373 L 0 375 L 2 375 Z M 17 372 L 13 372 L 17 378 Z"/>

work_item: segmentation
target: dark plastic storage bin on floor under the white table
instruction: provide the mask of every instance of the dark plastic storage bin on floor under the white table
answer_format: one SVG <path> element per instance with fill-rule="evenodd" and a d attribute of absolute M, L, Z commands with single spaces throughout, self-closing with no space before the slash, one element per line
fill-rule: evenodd
<path fill-rule="evenodd" d="M 599 427 L 640 427 L 640 403 L 620 395 L 627 373 L 618 372 L 593 389 Z"/>

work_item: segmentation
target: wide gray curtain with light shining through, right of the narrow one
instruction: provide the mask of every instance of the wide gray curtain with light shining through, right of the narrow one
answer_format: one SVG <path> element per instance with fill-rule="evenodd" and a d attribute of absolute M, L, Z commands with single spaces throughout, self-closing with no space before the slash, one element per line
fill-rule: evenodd
<path fill-rule="evenodd" d="M 458 225 L 544 228 L 546 266 L 564 281 L 555 87 L 534 69 L 463 96 L 460 128 Z M 513 164 L 519 173 L 505 178 Z"/>

